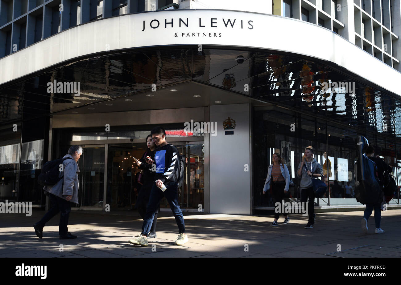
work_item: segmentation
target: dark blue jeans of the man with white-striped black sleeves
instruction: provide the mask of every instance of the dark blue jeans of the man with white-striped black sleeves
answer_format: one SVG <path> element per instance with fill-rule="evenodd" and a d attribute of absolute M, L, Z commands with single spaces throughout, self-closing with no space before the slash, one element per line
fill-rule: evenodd
<path fill-rule="evenodd" d="M 156 186 L 156 183 L 153 184 L 152 190 L 150 190 L 149 202 L 148 207 L 146 207 L 146 214 L 144 223 L 142 224 L 141 235 L 148 235 L 150 228 L 152 227 L 154 215 L 163 196 L 166 197 L 167 202 L 170 205 L 170 209 L 174 214 L 174 218 L 176 219 L 176 223 L 178 225 L 178 232 L 185 233 L 184 217 L 182 216 L 180 205 L 178 204 L 178 185 L 175 182 L 170 182 L 168 185 L 166 185 L 166 187 L 166 191 L 163 192 L 159 187 Z"/>

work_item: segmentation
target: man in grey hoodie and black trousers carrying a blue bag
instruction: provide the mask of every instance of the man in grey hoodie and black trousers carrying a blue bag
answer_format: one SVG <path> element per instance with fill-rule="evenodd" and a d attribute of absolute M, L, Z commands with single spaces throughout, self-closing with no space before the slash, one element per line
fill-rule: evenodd
<path fill-rule="evenodd" d="M 312 176 L 323 177 L 322 166 L 313 158 L 313 148 L 309 146 L 305 149 L 304 159 L 298 165 L 298 177 L 301 178 L 301 202 L 308 203 L 309 219 L 305 229 L 312 229 L 315 223 L 316 214 L 314 213 L 315 193 L 313 191 Z"/>

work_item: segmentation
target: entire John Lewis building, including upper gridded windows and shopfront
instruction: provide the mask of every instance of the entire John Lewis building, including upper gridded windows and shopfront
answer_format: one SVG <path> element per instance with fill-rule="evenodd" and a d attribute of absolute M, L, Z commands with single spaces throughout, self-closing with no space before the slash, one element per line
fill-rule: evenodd
<path fill-rule="evenodd" d="M 215 2 L 1 0 L 0 200 L 44 206 L 41 167 L 82 145 L 76 209 L 133 210 L 157 125 L 186 157 L 185 211 L 272 209 L 275 152 L 296 201 L 309 145 L 331 189 L 316 206 L 355 207 L 358 135 L 400 185 L 399 0 Z"/>

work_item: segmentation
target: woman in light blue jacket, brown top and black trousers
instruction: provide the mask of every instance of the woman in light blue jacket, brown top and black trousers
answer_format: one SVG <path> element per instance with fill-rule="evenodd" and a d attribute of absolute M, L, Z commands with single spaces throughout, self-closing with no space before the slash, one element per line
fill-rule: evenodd
<path fill-rule="evenodd" d="M 266 191 L 271 187 L 276 205 L 277 202 L 282 204 L 282 200 L 288 193 L 288 187 L 290 187 L 290 172 L 288 171 L 287 165 L 283 163 L 279 153 L 274 153 L 272 160 L 272 164 L 269 165 L 269 170 L 267 171 L 265 186 L 263 187 L 263 194 L 265 194 Z M 283 209 L 284 205 L 276 206 L 274 211 L 274 221 L 270 226 L 276 227 L 278 225 L 277 220 L 280 214 L 283 212 Z M 283 224 L 286 225 L 290 221 L 290 218 L 285 213 L 283 213 L 283 215 L 285 217 Z"/>

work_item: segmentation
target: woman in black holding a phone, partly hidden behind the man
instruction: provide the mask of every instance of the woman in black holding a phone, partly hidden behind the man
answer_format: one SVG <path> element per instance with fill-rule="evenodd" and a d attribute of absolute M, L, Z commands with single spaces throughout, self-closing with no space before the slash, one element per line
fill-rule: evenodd
<path fill-rule="evenodd" d="M 134 157 L 134 161 L 138 165 L 139 169 L 142 170 L 142 175 L 143 175 L 142 176 L 143 185 L 140 188 L 138 198 L 136 199 L 138 212 L 141 215 L 142 219 L 145 218 L 146 207 L 148 206 L 149 202 L 150 190 L 152 189 L 152 186 L 154 184 L 154 177 L 156 174 L 156 167 L 152 166 L 154 163 L 154 154 L 156 145 L 152 140 L 152 135 L 150 134 L 146 137 L 146 145 L 148 146 L 148 148 L 142 155 L 142 158 L 138 161 L 138 159 Z M 152 171 L 152 169 L 154 169 L 154 171 Z M 148 233 L 148 239 L 152 237 L 157 237 L 156 235 L 157 213 L 158 210 L 154 215 L 152 228 Z"/>

